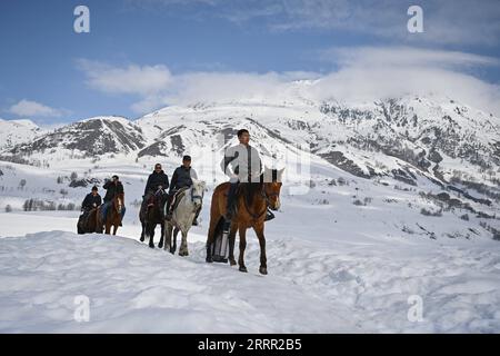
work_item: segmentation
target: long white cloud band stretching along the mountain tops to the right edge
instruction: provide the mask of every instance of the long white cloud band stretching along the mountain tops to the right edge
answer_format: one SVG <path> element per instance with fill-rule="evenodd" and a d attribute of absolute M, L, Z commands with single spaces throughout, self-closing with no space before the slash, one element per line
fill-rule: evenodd
<path fill-rule="evenodd" d="M 478 55 L 417 49 L 341 48 L 321 52 L 321 59 L 336 63 L 330 73 L 314 72 L 221 72 L 197 71 L 171 75 L 169 79 L 144 89 L 139 80 L 136 88 L 130 81 L 127 91 L 118 85 L 97 89 L 110 93 L 137 93 L 139 100 L 131 106 L 138 113 L 147 113 L 168 105 L 194 102 L 274 102 L 306 98 L 313 101 L 371 101 L 404 95 L 442 95 L 490 111 L 500 117 L 500 88 L 477 77 L 474 71 L 484 66 L 499 66 L 498 59 Z M 127 73 L 129 66 L 104 66 L 107 73 Z M 136 72 L 134 70 L 132 72 Z M 160 70 L 160 73 L 164 72 Z M 92 72 L 93 73 L 93 72 Z M 111 76 L 106 75 L 106 78 Z M 121 76 L 113 77 L 117 82 Z M 298 80 L 307 79 L 308 85 Z M 108 82 L 108 81 L 106 81 Z"/>

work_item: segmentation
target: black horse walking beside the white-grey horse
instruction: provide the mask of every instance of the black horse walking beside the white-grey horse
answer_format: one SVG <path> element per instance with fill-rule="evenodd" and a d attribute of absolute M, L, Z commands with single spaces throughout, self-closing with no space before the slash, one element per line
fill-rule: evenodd
<path fill-rule="evenodd" d="M 161 226 L 161 236 L 164 234 L 164 224 L 163 224 L 163 208 L 167 202 L 167 194 L 163 189 L 158 189 L 157 192 L 152 196 L 152 206 L 149 205 L 146 208 L 146 211 L 142 209 L 139 210 L 139 220 L 142 225 L 141 231 L 141 241 L 144 241 L 144 237 L 149 238 L 149 247 L 154 248 L 154 229 L 157 225 Z M 161 248 L 161 246 L 158 246 Z"/>

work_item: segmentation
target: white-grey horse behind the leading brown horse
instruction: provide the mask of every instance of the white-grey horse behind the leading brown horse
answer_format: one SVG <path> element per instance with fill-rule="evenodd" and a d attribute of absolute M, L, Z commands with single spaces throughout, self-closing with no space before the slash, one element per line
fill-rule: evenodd
<path fill-rule="evenodd" d="M 177 197 L 176 207 L 172 211 L 172 218 L 164 221 L 164 249 L 169 249 L 173 255 L 177 249 L 177 235 L 182 233 L 182 241 L 179 248 L 179 256 L 188 256 L 188 231 L 192 226 L 192 221 L 198 210 L 201 209 L 203 204 L 203 195 L 206 182 L 198 179 L 192 179 L 192 186 L 188 189 L 180 191 Z M 166 211 L 167 215 L 167 211 Z M 173 241 L 172 241 L 173 229 Z M 161 237 L 159 247 L 163 245 L 163 236 Z M 160 247 L 161 248 L 161 247 Z"/>

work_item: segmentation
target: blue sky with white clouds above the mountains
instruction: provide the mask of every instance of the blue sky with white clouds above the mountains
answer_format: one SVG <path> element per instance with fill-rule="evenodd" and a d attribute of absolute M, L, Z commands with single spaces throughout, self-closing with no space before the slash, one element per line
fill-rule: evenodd
<path fill-rule="evenodd" d="M 90 9 L 90 33 L 73 31 L 78 4 Z M 407 30 L 410 4 L 423 9 L 423 33 Z M 404 70 L 432 79 L 439 71 L 443 86 L 468 87 L 466 100 L 487 96 L 479 105 L 497 113 L 499 43 L 498 0 L 3 0 L 0 118 L 136 118 L 167 105 L 279 90 L 297 78 L 349 86 L 339 80 L 353 68 L 389 81 Z"/>

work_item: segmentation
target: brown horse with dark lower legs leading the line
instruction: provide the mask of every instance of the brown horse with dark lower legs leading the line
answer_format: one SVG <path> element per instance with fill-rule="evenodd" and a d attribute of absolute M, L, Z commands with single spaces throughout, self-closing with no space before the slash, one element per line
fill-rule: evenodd
<path fill-rule="evenodd" d="M 234 260 L 236 233 L 240 235 L 240 256 L 238 258 L 239 270 L 247 273 L 244 266 L 244 249 L 247 248 L 247 229 L 253 228 L 260 245 L 260 267 L 262 275 L 268 274 L 266 256 L 264 219 L 268 207 L 271 210 L 280 208 L 281 177 L 283 169 L 266 168 L 259 178 L 259 182 L 241 182 L 237 190 L 236 207 L 237 214 L 231 219 L 229 229 L 229 261 L 231 266 Z M 272 179 L 269 179 L 272 178 Z M 221 219 L 227 214 L 227 196 L 229 182 L 223 182 L 216 187 L 210 207 L 210 226 L 207 238 L 207 263 L 213 263 L 212 247 L 214 244 L 217 229 L 221 226 Z"/>

